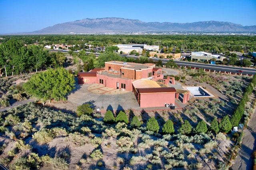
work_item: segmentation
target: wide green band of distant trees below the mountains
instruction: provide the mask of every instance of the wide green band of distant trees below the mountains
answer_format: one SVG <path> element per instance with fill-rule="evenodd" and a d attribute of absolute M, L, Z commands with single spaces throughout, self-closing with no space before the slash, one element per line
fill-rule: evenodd
<path fill-rule="evenodd" d="M 94 47 L 110 47 L 116 44 L 159 45 L 160 48 L 185 49 L 185 51 L 212 51 L 218 54 L 228 51 L 256 51 L 256 36 L 248 35 L 3 35 L 8 39 L 22 41 L 23 44 L 41 45 L 66 44 Z"/>

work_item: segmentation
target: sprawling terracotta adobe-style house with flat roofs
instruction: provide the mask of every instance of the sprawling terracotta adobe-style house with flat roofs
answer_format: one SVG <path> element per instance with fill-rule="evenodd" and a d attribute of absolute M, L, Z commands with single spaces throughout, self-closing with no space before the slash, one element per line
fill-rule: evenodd
<path fill-rule="evenodd" d="M 162 68 L 156 64 L 127 63 L 122 61 L 105 62 L 105 68 L 95 68 L 91 72 L 79 72 L 79 84 L 102 84 L 109 88 L 122 89 L 134 92 L 141 108 L 162 107 L 165 104 L 174 104 L 180 94 L 176 89 L 168 86 L 170 78 L 164 79 Z M 174 78 L 172 78 L 174 82 Z M 183 92 L 183 103 L 189 100 L 189 92 Z"/>

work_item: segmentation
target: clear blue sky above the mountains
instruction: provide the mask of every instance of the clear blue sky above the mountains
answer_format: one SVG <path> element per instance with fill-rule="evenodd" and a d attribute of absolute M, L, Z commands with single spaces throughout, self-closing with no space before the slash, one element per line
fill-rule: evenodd
<path fill-rule="evenodd" d="M 256 0 L 0 0 L 0 34 L 105 17 L 172 23 L 227 21 L 252 26 L 256 25 Z"/>

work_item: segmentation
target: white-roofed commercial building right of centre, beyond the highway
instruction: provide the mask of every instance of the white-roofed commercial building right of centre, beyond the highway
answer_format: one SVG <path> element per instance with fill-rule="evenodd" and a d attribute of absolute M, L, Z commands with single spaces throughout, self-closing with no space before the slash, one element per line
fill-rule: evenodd
<path fill-rule="evenodd" d="M 224 57 L 224 56 L 206 53 L 204 51 L 198 51 L 198 52 L 191 53 L 192 61 L 209 62 L 211 59 L 216 59 L 216 61 L 223 61 L 223 59 L 225 59 L 225 58 L 226 57 Z"/>

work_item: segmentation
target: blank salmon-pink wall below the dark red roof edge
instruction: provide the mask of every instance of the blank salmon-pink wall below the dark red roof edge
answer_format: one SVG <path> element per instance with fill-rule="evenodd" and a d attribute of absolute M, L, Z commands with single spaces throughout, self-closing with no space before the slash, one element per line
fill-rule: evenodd
<path fill-rule="evenodd" d="M 163 107 L 164 103 L 174 104 L 175 103 L 175 93 L 142 93 L 139 94 L 139 104 L 140 108 L 145 107 Z"/>

